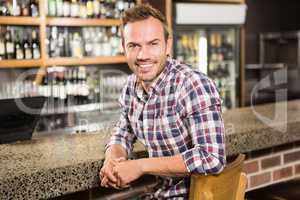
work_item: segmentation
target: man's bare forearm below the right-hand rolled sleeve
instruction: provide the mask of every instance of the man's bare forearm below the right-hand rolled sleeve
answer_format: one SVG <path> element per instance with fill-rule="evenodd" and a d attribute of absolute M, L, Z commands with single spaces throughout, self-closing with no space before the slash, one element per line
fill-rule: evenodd
<path fill-rule="evenodd" d="M 180 154 L 168 157 L 142 158 L 136 161 L 144 174 L 159 176 L 186 176 L 189 174 Z"/>

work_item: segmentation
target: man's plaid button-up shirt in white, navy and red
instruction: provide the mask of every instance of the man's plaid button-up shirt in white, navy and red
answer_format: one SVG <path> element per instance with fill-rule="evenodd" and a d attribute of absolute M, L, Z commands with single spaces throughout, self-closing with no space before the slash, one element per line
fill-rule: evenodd
<path fill-rule="evenodd" d="M 138 139 L 149 157 L 181 154 L 188 172 L 219 173 L 225 165 L 224 124 L 216 86 L 203 73 L 176 60 L 166 67 L 148 94 L 129 76 L 120 97 L 120 120 L 110 142 L 128 155 Z M 160 177 L 154 199 L 187 199 L 189 177 Z"/>

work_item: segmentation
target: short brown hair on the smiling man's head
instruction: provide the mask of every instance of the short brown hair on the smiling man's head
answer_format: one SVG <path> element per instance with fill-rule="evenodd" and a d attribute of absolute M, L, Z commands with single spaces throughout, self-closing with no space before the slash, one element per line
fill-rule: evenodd
<path fill-rule="evenodd" d="M 142 20 L 148 19 L 149 17 L 154 17 L 155 19 L 158 19 L 161 22 L 163 29 L 164 29 L 165 40 L 167 40 L 170 33 L 169 33 L 166 18 L 161 14 L 161 12 L 159 10 L 153 8 L 148 3 L 134 6 L 132 8 L 129 8 L 128 10 L 126 10 L 123 13 L 122 18 L 121 18 L 122 32 L 123 32 L 126 24 L 128 24 L 130 22 L 142 21 Z"/>

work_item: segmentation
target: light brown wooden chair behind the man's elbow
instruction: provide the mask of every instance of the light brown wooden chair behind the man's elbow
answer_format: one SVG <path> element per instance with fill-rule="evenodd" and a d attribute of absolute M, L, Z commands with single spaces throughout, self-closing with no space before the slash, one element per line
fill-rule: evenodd
<path fill-rule="evenodd" d="M 240 154 L 217 175 L 192 175 L 189 200 L 244 200 L 247 177 Z"/>

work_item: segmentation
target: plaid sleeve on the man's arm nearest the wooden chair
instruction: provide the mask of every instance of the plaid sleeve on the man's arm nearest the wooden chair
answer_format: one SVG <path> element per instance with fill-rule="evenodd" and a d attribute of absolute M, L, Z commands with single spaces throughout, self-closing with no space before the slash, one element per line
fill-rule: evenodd
<path fill-rule="evenodd" d="M 192 148 L 182 153 L 187 170 L 220 173 L 226 162 L 225 130 L 215 84 L 208 78 L 192 78 L 183 90 L 178 107 L 192 139 Z"/>

